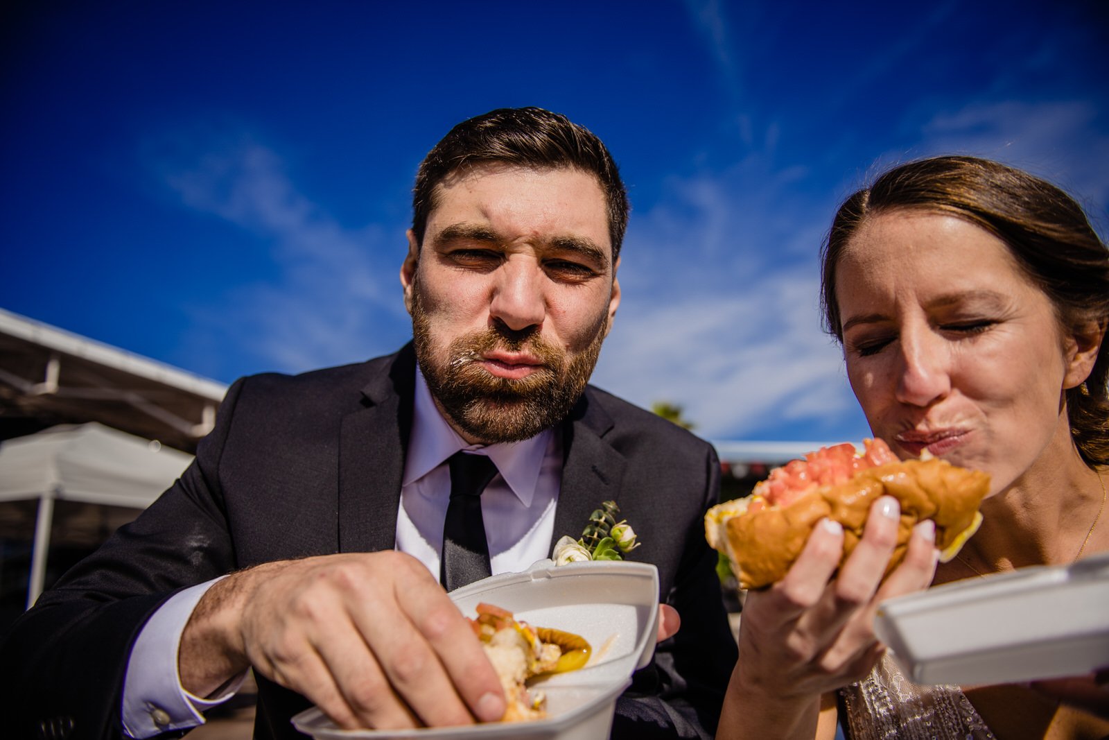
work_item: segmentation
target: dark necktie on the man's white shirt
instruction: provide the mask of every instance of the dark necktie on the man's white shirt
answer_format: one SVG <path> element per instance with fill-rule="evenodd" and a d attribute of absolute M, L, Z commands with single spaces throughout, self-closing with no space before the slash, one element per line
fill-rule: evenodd
<path fill-rule="evenodd" d="M 481 491 L 497 475 L 497 466 L 485 455 L 458 452 L 450 466 L 450 504 L 442 527 L 439 581 L 452 591 L 492 574 L 489 543 L 481 518 Z"/>

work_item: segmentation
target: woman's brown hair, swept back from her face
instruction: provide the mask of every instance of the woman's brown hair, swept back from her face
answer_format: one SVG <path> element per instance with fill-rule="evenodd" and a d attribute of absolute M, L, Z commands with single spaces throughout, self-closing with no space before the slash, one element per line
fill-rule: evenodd
<path fill-rule="evenodd" d="M 824 328 L 843 341 L 836 265 L 867 216 L 895 209 L 946 213 L 985 229 L 1051 300 L 1060 324 L 1078 331 L 1109 318 L 1109 250 L 1081 206 L 1049 182 L 974 156 L 936 156 L 896 166 L 851 195 L 836 212 L 821 253 Z M 1103 337 L 1102 337 L 1103 338 Z M 1089 377 L 1067 389 L 1070 432 L 1088 465 L 1109 464 L 1109 343 Z"/>

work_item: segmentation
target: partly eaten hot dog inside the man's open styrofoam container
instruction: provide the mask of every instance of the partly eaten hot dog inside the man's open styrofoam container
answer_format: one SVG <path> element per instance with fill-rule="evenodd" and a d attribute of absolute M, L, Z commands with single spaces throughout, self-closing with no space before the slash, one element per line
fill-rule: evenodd
<path fill-rule="evenodd" d="M 505 689 L 507 709 L 501 721 L 543 719 L 547 698 L 529 689 L 528 679 L 581 668 L 589 660 L 589 642 L 570 632 L 517 621 L 511 611 L 491 604 L 479 604 L 470 625 Z"/>

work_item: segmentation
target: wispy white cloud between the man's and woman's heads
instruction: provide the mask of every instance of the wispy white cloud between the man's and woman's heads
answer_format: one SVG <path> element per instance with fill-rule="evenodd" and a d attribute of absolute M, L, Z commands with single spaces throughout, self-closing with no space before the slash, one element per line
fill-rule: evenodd
<path fill-rule="evenodd" d="M 810 178 L 751 155 L 671 179 L 637 212 L 597 384 L 648 407 L 678 403 L 710 438 L 864 435 L 821 331 L 817 254 L 834 196 L 805 196 Z"/>

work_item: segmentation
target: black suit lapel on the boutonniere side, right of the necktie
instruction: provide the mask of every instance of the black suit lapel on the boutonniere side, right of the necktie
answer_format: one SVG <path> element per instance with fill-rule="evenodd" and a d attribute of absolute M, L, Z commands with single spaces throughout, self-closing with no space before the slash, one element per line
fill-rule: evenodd
<path fill-rule="evenodd" d="M 620 484 L 627 460 L 602 436 L 612 428 L 611 417 L 596 403 L 590 391 L 574 406 L 564 427 L 562 449 L 562 484 L 554 509 L 554 531 L 551 548 L 563 535 L 577 539 L 589 521 L 589 515 L 601 501 L 619 504 Z"/>

